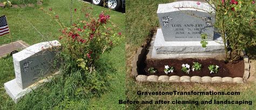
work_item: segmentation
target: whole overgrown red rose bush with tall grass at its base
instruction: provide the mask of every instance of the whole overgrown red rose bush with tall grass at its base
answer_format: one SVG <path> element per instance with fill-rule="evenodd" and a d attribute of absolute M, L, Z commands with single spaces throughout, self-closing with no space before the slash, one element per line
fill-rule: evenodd
<path fill-rule="evenodd" d="M 88 98 L 91 94 L 103 93 L 109 87 L 109 74 L 114 69 L 105 59 L 104 52 L 110 51 L 123 41 L 123 35 L 117 26 L 110 22 L 111 16 L 100 12 L 95 18 L 87 9 L 71 8 L 71 25 L 64 25 L 62 17 L 54 9 L 43 9 L 60 26 L 59 63 L 62 64 L 62 85 L 65 97 Z M 80 14 L 83 14 L 80 19 Z M 75 19 L 75 20 L 74 20 Z M 72 22 L 73 21 L 73 22 Z"/>

